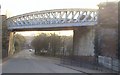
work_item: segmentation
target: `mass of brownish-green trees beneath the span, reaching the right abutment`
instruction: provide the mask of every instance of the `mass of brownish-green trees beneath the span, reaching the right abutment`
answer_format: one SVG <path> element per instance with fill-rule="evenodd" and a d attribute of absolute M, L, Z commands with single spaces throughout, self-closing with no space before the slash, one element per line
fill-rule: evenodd
<path fill-rule="evenodd" d="M 59 36 L 55 33 L 41 33 L 31 42 L 36 55 L 61 56 L 69 55 L 72 50 L 72 36 Z"/>

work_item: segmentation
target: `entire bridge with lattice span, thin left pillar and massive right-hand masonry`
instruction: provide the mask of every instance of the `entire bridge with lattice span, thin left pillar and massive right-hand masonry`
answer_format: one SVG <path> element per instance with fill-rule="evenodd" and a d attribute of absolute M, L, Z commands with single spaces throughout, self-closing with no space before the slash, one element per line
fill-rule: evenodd
<path fill-rule="evenodd" d="M 16 31 L 68 29 L 74 32 L 73 53 L 75 56 L 88 56 L 89 60 L 95 57 L 105 67 L 119 71 L 119 65 L 114 64 L 114 60 L 119 63 L 120 58 L 112 60 L 120 54 L 119 44 L 116 42 L 119 40 L 116 3 L 103 3 L 99 5 L 98 10 L 55 9 L 7 18 L 7 30 L 10 34 L 8 54 L 11 55 L 14 52 L 14 32 Z"/>

